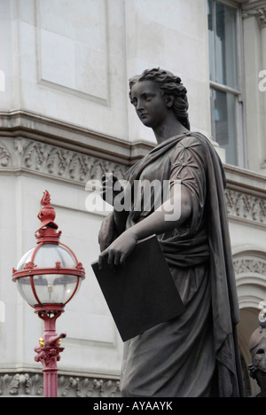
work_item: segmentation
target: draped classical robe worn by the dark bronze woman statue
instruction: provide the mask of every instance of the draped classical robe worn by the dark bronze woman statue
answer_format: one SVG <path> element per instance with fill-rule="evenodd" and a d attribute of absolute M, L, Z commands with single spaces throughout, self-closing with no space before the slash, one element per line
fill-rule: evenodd
<path fill-rule="evenodd" d="M 200 133 L 171 137 L 125 178 L 130 184 L 179 180 L 191 194 L 192 214 L 182 225 L 157 235 L 185 312 L 124 344 L 122 396 L 243 395 L 225 176 L 215 149 Z M 130 211 L 125 229 L 152 213 L 153 206 L 150 211 Z M 116 237 L 111 214 L 99 233 L 101 250 Z"/>

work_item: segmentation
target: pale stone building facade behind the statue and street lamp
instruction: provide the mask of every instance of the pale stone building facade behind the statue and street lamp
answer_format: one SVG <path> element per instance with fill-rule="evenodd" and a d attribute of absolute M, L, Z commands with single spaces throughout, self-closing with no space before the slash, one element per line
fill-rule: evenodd
<path fill-rule="evenodd" d="M 86 184 L 121 176 L 155 145 L 128 98 L 129 77 L 151 67 L 180 75 L 192 129 L 224 163 L 239 346 L 254 394 L 248 342 L 266 300 L 266 1 L 0 0 L 0 38 L 0 396 L 43 394 L 42 322 L 11 277 L 35 246 L 45 190 L 86 270 L 57 323 L 67 333 L 59 395 L 120 395 L 122 343 L 90 267 L 106 212 L 89 206 Z"/>

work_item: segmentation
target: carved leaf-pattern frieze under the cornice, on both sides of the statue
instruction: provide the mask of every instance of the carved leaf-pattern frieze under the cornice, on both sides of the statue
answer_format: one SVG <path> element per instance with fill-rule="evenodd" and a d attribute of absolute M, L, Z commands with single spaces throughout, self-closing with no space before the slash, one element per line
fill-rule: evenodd
<path fill-rule="evenodd" d="M 23 171 L 84 186 L 89 180 L 100 180 L 105 172 L 112 172 L 121 178 L 126 169 L 121 163 L 27 138 L 3 137 L 0 140 L 0 172 L 4 173 Z M 262 197 L 262 192 L 257 192 L 256 195 L 248 189 L 239 192 L 231 188 L 234 186 L 236 184 L 231 183 L 225 190 L 229 217 L 266 226 L 266 199 Z M 239 184 L 238 189 L 240 188 Z"/>

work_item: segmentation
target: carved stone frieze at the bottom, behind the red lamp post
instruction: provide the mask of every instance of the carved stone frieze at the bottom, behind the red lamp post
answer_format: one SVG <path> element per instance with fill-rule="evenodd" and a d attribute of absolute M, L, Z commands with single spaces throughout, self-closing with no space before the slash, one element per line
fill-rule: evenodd
<path fill-rule="evenodd" d="M 60 376 L 59 397 L 120 397 L 119 380 Z M 0 397 L 43 396 L 43 374 L 0 373 Z"/>

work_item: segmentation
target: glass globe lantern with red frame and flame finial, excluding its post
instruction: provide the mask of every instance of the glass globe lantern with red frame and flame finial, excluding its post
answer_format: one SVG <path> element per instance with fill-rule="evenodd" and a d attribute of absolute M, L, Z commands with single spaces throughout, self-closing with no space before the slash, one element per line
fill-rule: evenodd
<path fill-rule="evenodd" d="M 38 218 L 42 225 L 36 231 L 37 246 L 22 256 L 12 279 L 27 303 L 36 311 L 63 311 L 76 294 L 85 278 L 82 263 L 74 252 L 59 242 L 61 232 L 53 222 L 55 212 L 50 195 L 44 193 L 43 209 Z"/>

